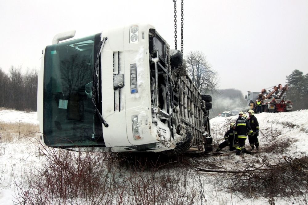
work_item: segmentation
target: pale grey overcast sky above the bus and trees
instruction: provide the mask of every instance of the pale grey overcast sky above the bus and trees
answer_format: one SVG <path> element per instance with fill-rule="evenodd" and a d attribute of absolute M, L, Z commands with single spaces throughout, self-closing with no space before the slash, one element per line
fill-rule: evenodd
<path fill-rule="evenodd" d="M 42 49 L 67 30 L 78 38 L 147 22 L 174 48 L 173 9 L 172 0 L 0 0 L 0 68 L 39 69 Z M 196 50 L 219 72 L 220 89 L 284 85 L 293 70 L 308 73 L 308 1 L 185 0 L 184 55 Z"/>

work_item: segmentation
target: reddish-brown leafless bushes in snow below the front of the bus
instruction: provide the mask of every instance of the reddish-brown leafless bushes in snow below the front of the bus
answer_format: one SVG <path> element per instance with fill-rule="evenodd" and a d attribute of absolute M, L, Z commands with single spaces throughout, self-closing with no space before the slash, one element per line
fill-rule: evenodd
<path fill-rule="evenodd" d="M 16 204 L 198 204 L 198 191 L 188 188 L 191 175 L 184 160 L 133 155 L 128 164 L 134 159 L 134 166 L 120 166 L 128 156 L 35 143 L 45 160 L 25 173 L 27 177 L 15 180 Z"/>

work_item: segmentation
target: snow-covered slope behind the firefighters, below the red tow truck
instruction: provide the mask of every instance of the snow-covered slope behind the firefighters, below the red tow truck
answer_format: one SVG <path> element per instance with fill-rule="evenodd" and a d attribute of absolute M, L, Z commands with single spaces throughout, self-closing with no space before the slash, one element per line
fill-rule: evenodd
<path fill-rule="evenodd" d="M 296 157 L 305 156 L 308 151 L 308 110 L 300 110 L 294 112 L 279 112 L 279 113 L 259 113 L 255 114 L 259 125 L 260 133 L 258 136 L 260 147 L 264 144 L 270 144 L 270 136 L 276 136 L 277 141 L 289 139 L 291 142 L 290 151 Z M 231 117 L 215 117 L 210 120 L 211 134 L 215 138 L 221 134 L 219 131 L 227 131 L 229 124 L 235 122 L 238 116 Z M 249 145 L 248 139 L 246 145 Z"/>

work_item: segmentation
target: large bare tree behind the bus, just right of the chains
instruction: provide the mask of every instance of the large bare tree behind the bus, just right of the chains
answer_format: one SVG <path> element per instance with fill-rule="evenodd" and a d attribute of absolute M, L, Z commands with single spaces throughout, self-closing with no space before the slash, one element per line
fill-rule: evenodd
<path fill-rule="evenodd" d="M 198 90 L 205 93 L 214 93 L 217 90 L 217 71 L 206 60 L 201 51 L 190 51 L 186 57 L 187 73 Z"/>

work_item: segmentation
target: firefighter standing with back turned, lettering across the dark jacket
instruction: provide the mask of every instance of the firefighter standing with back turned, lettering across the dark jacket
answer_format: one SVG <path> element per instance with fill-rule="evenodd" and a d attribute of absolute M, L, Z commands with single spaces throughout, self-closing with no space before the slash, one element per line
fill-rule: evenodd
<path fill-rule="evenodd" d="M 236 155 L 241 155 L 243 151 L 245 151 L 245 140 L 247 139 L 247 132 L 253 136 L 253 131 L 250 127 L 249 122 L 247 121 L 246 114 L 243 114 L 241 118 L 237 118 L 236 120 L 236 128 L 238 146 L 236 148 Z"/>

